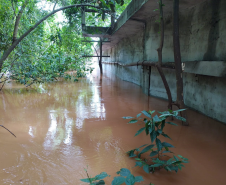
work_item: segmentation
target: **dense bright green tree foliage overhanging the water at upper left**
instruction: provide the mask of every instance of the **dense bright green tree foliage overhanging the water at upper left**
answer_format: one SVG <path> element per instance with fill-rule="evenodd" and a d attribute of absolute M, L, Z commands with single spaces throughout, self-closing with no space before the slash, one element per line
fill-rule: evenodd
<path fill-rule="evenodd" d="M 126 3 L 129 3 L 127 0 Z M 123 0 L 3 0 L 0 2 L 0 83 L 15 80 L 29 86 L 57 80 L 59 77 L 77 78 L 92 71 L 90 60 L 82 55 L 92 55 L 92 44 L 82 43 L 81 7 L 65 9 L 63 22 L 55 14 L 37 26 L 10 51 L 15 41 L 54 9 L 73 4 L 96 6 L 97 13 L 88 13 L 86 22 L 96 26 L 109 25 L 105 14 L 116 8 L 123 10 Z M 46 5 L 44 8 L 42 5 Z M 122 6 L 122 7 L 121 7 Z M 98 8 L 99 7 L 99 8 Z M 116 8 L 115 8 L 116 7 Z M 120 7 L 120 8 L 119 8 Z M 104 21 L 105 22 L 104 22 Z M 86 38 L 87 40 L 90 38 Z M 2 56 L 9 56 L 2 60 Z M 74 71 L 69 75 L 67 71 Z M 4 75 L 7 74 L 7 75 Z M 3 76 L 4 75 L 4 76 Z"/>

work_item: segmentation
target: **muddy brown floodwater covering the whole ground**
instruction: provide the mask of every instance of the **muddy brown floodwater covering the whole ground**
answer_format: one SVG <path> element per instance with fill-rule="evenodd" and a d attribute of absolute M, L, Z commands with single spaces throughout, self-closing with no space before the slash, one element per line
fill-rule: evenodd
<path fill-rule="evenodd" d="M 134 137 L 140 126 L 122 117 L 164 111 L 167 102 L 147 97 L 132 83 L 98 76 L 33 89 L 10 83 L 0 99 L 0 124 L 17 136 L 0 128 L 0 185 L 82 185 L 84 168 L 91 176 L 107 172 L 107 184 L 120 168 L 142 175 L 140 184 L 146 185 L 226 184 L 226 126 L 191 110 L 189 127 L 177 122 L 165 130 L 173 151 L 190 163 L 177 174 L 133 168 L 126 151 L 150 141 L 144 134 Z"/>

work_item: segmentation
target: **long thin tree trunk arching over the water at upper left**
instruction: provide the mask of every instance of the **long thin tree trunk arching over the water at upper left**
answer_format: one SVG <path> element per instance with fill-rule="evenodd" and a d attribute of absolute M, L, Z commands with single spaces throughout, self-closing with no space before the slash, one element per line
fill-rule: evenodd
<path fill-rule="evenodd" d="M 49 13 L 48 15 L 46 15 L 45 17 L 43 17 L 42 19 L 40 19 L 34 26 L 32 26 L 28 31 L 26 31 L 23 35 L 20 36 L 19 39 L 16 39 L 12 45 L 4 52 L 3 56 L 0 59 L 0 72 L 2 71 L 2 65 L 4 63 L 4 61 L 7 59 L 7 57 L 10 55 L 10 53 L 16 48 L 16 46 L 27 36 L 29 35 L 35 28 L 38 27 L 39 24 L 41 24 L 43 21 L 45 21 L 47 18 L 49 18 L 51 15 L 68 9 L 68 8 L 73 8 L 73 7 L 81 7 L 81 6 L 89 6 L 89 7 L 94 7 L 94 8 L 98 8 L 100 9 L 99 6 L 94 6 L 91 4 L 74 4 L 74 5 L 69 5 L 69 6 L 65 6 L 59 9 L 56 9 L 54 11 L 52 11 L 51 13 Z"/>

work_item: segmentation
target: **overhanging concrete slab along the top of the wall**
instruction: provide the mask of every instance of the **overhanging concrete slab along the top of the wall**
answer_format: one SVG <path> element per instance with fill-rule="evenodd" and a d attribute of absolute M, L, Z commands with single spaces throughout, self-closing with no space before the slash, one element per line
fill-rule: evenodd
<path fill-rule="evenodd" d="M 180 0 L 180 9 L 183 11 L 186 8 L 197 5 L 205 0 Z M 163 0 L 165 14 L 172 13 L 172 0 Z M 159 8 L 157 0 L 133 0 L 121 16 L 118 18 L 113 30 L 109 27 L 97 28 L 97 27 L 85 27 L 83 30 L 83 36 L 86 37 L 104 37 L 108 38 L 111 43 L 105 43 L 104 49 L 109 49 L 124 37 L 132 36 L 143 30 L 144 22 L 151 17 L 158 15 L 158 11 L 154 11 Z M 96 29 L 97 32 L 87 32 L 87 29 Z M 100 31 L 102 30 L 102 33 Z"/>

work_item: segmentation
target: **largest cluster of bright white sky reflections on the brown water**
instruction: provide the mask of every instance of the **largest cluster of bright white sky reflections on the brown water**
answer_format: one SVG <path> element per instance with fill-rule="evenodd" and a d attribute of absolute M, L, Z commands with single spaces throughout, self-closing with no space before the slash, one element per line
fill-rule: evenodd
<path fill-rule="evenodd" d="M 56 102 L 62 102 L 66 106 L 70 103 L 72 106 L 49 110 L 50 124 L 43 143 L 45 149 L 55 149 L 62 142 L 71 145 L 74 126 L 78 131 L 81 130 L 86 119 L 105 120 L 104 103 L 101 102 L 99 87 L 96 85 L 79 89 L 76 96 L 71 98 L 67 94 L 65 97 L 58 93 L 52 94 Z"/>

